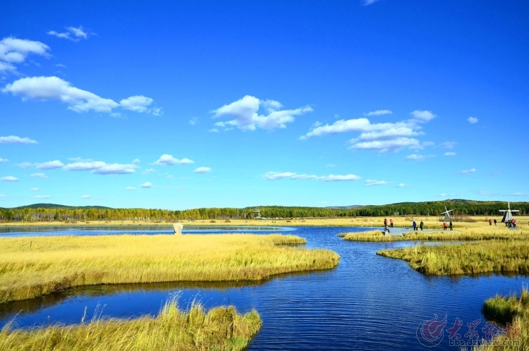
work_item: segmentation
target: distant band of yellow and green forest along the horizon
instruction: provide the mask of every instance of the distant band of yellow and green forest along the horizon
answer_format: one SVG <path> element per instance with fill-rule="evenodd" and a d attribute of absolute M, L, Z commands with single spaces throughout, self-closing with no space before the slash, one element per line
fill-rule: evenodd
<path fill-rule="evenodd" d="M 108 207 L 69 207 L 35 204 L 12 209 L 0 208 L 0 221 L 178 221 L 199 219 L 262 218 L 334 218 L 355 216 L 441 216 L 444 207 L 453 209 L 451 216 L 501 216 L 506 202 L 484 202 L 454 199 L 435 202 L 401 202 L 379 206 L 347 208 L 257 206 L 244 209 L 201 208 L 171 211 L 166 209 L 111 209 Z M 259 211 L 256 211 L 256 210 Z M 529 214 L 529 202 L 511 202 L 517 214 Z"/>

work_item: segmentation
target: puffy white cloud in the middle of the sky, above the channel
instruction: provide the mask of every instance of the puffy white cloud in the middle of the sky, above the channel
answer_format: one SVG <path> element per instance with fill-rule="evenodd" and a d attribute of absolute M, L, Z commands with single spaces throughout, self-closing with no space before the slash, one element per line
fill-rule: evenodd
<path fill-rule="evenodd" d="M 260 115 L 260 107 L 267 110 L 267 115 Z M 282 105 L 274 100 L 260 100 L 257 97 L 246 95 L 238 101 L 219 107 L 211 111 L 214 118 L 234 117 L 235 119 L 227 122 L 217 122 L 215 126 L 221 128 L 236 127 L 241 130 L 256 130 L 257 128 L 274 130 L 277 128 L 286 128 L 286 123 L 292 123 L 294 116 L 311 112 L 310 106 L 300 107 L 294 110 L 280 110 Z"/>

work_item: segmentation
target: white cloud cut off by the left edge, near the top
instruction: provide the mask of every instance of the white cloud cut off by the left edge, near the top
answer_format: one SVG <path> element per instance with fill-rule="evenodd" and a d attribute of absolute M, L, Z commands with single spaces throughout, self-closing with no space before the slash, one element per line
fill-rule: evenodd
<path fill-rule="evenodd" d="M 0 41 L 0 73 L 15 72 L 14 63 L 23 63 L 30 54 L 49 56 L 49 47 L 42 42 L 6 37 Z"/>

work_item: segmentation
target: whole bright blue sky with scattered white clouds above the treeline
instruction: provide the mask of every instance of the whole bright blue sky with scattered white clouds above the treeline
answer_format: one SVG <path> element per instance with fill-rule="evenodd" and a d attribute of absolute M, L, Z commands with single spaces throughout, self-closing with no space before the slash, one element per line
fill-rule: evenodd
<path fill-rule="evenodd" d="M 529 201 L 529 3 L 0 3 L 0 207 Z"/>

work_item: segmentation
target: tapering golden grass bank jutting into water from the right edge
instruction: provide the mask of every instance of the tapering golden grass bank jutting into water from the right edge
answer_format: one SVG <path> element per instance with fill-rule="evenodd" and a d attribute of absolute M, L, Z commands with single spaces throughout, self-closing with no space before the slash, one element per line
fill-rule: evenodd
<path fill-rule="evenodd" d="M 431 275 L 529 273 L 529 234 L 480 240 L 459 245 L 418 245 L 377 254 L 408 261 L 411 268 Z"/>

